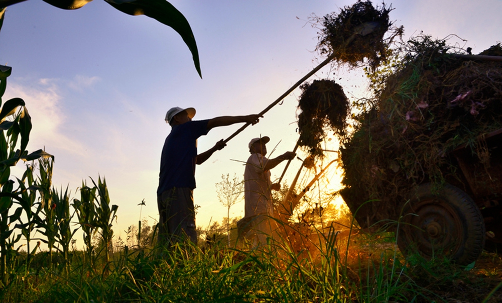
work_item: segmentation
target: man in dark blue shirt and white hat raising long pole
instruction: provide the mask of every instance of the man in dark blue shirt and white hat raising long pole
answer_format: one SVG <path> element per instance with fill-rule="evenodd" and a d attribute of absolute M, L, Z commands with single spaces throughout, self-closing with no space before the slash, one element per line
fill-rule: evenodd
<path fill-rule="evenodd" d="M 175 107 L 166 114 L 166 123 L 172 127 L 162 149 L 157 205 L 159 207 L 159 244 L 188 238 L 197 242 L 193 189 L 195 164 L 202 164 L 217 150 L 226 146 L 223 139 L 209 150 L 197 154 L 197 138 L 215 127 L 235 123 L 259 122 L 259 115 L 222 116 L 192 121 L 194 108 Z"/>

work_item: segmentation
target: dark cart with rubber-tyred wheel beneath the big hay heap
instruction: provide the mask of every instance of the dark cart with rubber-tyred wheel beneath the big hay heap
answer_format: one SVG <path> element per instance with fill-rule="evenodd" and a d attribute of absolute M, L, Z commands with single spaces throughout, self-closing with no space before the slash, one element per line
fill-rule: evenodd
<path fill-rule="evenodd" d="M 502 247 L 502 129 L 481 134 L 449 157 L 446 184 L 419 184 L 398 218 L 389 219 L 397 222 L 397 242 L 405 255 L 418 252 L 469 264 L 483 248 Z M 346 202 L 361 227 L 378 225 L 364 207 Z"/>

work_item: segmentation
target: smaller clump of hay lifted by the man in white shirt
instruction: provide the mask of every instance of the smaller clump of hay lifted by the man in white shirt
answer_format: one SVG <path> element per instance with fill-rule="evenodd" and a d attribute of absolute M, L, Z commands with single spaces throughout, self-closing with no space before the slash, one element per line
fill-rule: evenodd
<path fill-rule="evenodd" d="M 298 145 L 304 147 L 313 159 L 322 158 L 322 141 L 326 131 L 345 135 L 349 113 L 348 99 L 340 85 L 333 80 L 314 80 L 300 86 L 298 108 Z"/>

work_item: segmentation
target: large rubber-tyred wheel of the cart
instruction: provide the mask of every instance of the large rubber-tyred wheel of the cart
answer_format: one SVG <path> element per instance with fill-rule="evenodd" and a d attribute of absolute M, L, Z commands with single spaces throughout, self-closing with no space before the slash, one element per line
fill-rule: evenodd
<path fill-rule="evenodd" d="M 466 265 L 479 257 L 484 236 L 483 217 L 469 195 L 450 184 L 435 191 L 425 183 L 405 206 L 398 246 L 405 255 L 444 256 Z"/>

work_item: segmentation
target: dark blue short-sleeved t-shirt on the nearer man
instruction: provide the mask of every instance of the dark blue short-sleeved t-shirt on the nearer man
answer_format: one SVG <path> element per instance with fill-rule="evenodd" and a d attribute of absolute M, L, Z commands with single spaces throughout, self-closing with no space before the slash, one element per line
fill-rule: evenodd
<path fill-rule="evenodd" d="M 189 121 L 173 126 L 162 149 L 157 194 L 173 187 L 195 188 L 197 138 L 209 131 L 208 121 Z"/>

